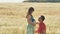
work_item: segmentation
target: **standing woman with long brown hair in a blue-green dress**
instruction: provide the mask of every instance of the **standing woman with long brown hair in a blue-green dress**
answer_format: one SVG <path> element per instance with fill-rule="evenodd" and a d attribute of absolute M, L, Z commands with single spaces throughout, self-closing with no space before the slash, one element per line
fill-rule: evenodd
<path fill-rule="evenodd" d="M 33 12 L 34 12 L 34 8 L 30 7 L 26 16 L 28 22 L 27 34 L 34 34 L 35 20 L 32 15 Z"/>

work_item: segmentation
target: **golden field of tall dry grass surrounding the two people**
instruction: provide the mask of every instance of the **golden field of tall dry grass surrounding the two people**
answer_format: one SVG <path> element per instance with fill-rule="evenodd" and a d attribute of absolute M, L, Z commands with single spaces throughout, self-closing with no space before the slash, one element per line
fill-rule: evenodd
<path fill-rule="evenodd" d="M 26 34 L 29 7 L 35 8 L 36 21 L 45 16 L 47 34 L 60 34 L 60 3 L 0 3 L 0 34 Z"/>

